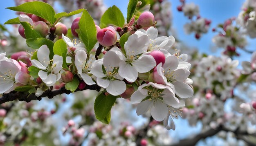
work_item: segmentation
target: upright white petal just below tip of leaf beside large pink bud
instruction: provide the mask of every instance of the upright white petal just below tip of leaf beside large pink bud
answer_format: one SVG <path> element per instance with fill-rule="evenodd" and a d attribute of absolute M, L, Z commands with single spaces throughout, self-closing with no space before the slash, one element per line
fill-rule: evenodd
<path fill-rule="evenodd" d="M 79 73 L 79 74 L 82 73 L 82 68 L 85 67 L 86 58 L 87 58 L 87 53 L 85 51 L 79 50 L 79 51 L 76 52 L 75 66 L 76 66 L 76 69 L 77 69 L 77 73 Z"/>

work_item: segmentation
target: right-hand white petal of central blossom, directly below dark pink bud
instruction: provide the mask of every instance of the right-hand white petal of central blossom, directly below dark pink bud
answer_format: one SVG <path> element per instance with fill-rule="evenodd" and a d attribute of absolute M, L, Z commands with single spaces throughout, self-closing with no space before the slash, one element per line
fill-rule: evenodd
<path fill-rule="evenodd" d="M 155 59 L 151 55 L 144 55 L 132 62 L 132 65 L 139 73 L 146 73 L 156 66 Z"/>

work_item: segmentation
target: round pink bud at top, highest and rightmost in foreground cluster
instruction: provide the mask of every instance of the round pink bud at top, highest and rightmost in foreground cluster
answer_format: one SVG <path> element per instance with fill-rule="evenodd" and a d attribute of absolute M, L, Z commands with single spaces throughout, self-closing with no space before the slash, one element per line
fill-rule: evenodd
<path fill-rule="evenodd" d="M 155 17 L 153 13 L 149 11 L 141 13 L 139 19 L 137 20 L 137 25 L 140 25 L 141 27 L 150 27 L 153 26 L 154 23 Z"/>

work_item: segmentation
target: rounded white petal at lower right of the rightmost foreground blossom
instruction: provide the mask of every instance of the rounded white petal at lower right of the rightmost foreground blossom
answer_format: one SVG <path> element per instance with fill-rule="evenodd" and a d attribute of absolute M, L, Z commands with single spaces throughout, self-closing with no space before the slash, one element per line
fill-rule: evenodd
<path fill-rule="evenodd" d="M 176 81 L 173 85 L 175 86 L 175 93 L 181 98 L 189 98 L 194 94 L 193 89 L 184 82 Z"/>

